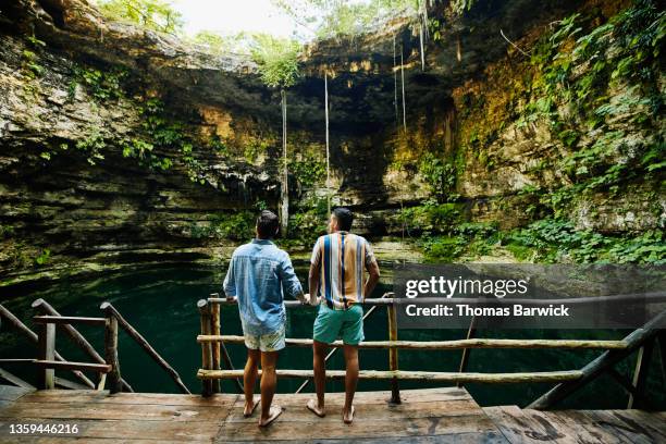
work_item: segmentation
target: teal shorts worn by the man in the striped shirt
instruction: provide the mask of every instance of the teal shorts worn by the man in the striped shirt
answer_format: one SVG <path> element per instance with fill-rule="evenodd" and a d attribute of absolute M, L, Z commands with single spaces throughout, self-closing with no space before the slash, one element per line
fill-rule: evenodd
<path fill-rule="evenodd" d="M 358 345 L 363 341 L 363 308 L 353 305 L 346 310 L 333 310 L 326 304 L 319 306 L 314 320 L 314 341 L 332 344 L 342 337 L 346 345 Z"/>

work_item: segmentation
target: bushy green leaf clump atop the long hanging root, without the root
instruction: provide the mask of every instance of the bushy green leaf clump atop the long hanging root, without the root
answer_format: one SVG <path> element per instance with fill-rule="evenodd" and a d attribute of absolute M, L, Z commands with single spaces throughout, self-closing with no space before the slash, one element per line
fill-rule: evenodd
<path fill-rule="evenodd" d="M 261 81 L 271 88 L 288 88 L 298 78 L 300 45 L 291 39 L 268 34 L 255 36 L 251 55 L 259 65 Z"/>

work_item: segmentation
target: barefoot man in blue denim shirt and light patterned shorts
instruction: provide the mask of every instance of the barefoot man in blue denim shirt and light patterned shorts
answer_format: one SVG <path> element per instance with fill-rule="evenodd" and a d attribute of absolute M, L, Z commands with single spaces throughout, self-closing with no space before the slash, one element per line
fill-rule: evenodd
<path fill-rule="evenodd" d="M 286 311 L 284 294 L 306 303 L 303 287 L 294 273 L 289 255 L 270 239 L 278 234 L 278 217 L 261 211 L 257 219 L 257 238 L 234 251 L 224 279 L 224 293 L 238 303 L 240 323 L 247 347 L 244 415 L 252 415 L 257 365 L 261 361 L 261 418 L 259 427 L 269 425 L 282 414 L 280 406 L 271 407 L 278 378 L 278 351 L 284 348 Z"/>

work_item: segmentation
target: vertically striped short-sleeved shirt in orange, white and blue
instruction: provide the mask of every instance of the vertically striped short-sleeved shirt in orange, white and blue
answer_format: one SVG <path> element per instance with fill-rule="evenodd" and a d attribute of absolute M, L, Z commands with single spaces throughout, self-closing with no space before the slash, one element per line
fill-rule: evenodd
<path fill-rule="evenodd" d="M 356 234 L 336 232 L 317 239 L 310 262 L 319 266 L 319 293 L 329 308 L 346 310 L 363 300 L 365 270 L 374 261 L 370 243 Z"/>

